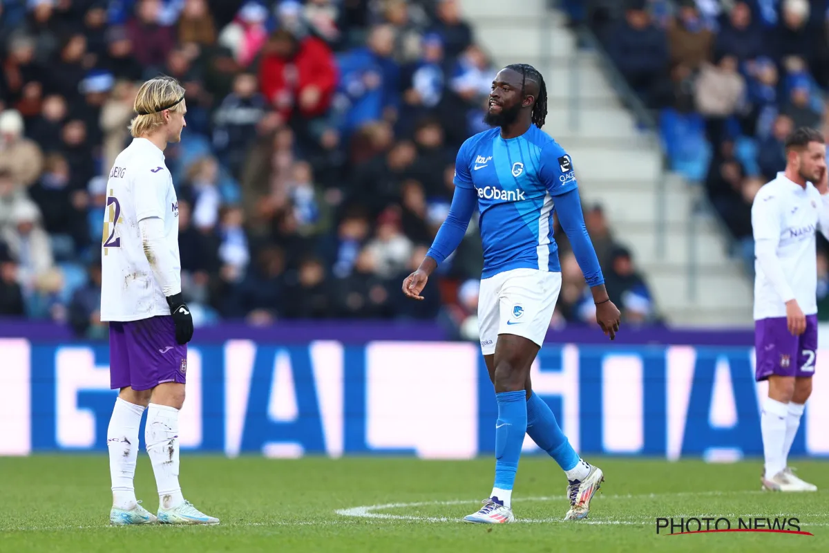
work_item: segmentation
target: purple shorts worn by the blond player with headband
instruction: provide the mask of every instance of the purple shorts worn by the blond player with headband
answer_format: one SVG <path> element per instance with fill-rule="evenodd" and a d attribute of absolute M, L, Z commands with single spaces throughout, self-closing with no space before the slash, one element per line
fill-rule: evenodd
<path fill-rule="evenodd" d="M 152 390 L 164 382 L 184 384 L 187 344 L 176 342 L 172 317 L 109 323 L 109 387 Z"/>

